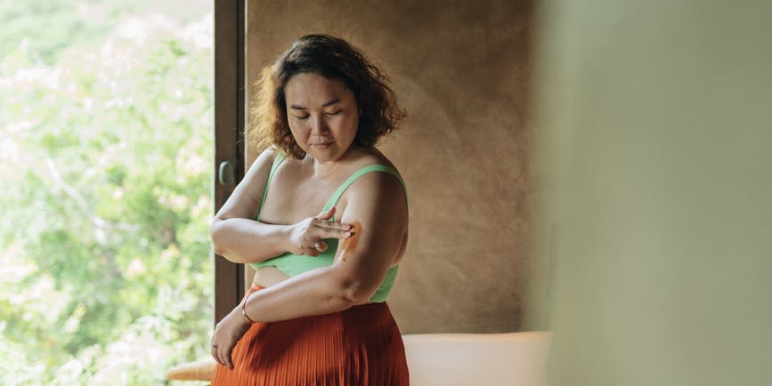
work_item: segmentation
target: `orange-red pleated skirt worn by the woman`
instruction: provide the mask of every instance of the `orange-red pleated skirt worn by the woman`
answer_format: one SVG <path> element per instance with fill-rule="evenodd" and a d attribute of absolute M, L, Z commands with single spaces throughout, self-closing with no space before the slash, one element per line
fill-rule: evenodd
<path fill-rule="evenodd" d="M 216 366 L 212 386 L 410 384 L 402 334 L 385 302 L 256 323 L 236 343 L 232 361 L 233 370 Z"/>

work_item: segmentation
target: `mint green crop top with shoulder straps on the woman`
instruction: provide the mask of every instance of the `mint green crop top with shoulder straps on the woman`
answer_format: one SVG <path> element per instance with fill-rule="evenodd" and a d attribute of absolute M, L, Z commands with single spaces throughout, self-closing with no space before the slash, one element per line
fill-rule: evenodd
<path fill-rule="evenodd" d="M 260 213 L 263 212 L 265 197 L 268 196 L 268 187 L 271 186 L 271 180 L 273 179 L 273 174 L 276 173 L 276 169 L 279 168 L 279 165 L 281 164 L 282 161 L 284 161 L 285 157 L 286 156 L 284 155 L 284 153 L 278 153 L 273 160 L 273 165 L 271 166 L 271 173 L 268 174 L 268 181 L 265 183 L 263 200 L 260 202 L 260 209 L 258 209 L 257 211 L 257 216 L 256 216 L 257 221 L 260 220 Z M 329 210 L 329 208 L 337 205 L 337 201 L 340 199 L 341 196 L 343 196 L 345 189 L 348 189 L 348 187 L 351 186 L 351 184 L 353 184 L 353 181 L 356 181 L 363 174 L 370 173 L 370 172 L 385 172 L 385 173 L 394 175 L 394 177 L 396 177 L 397 180 L 399 180 L 400 183 L 402 184 L 402 189 L 405 192 L 405 200 L 407 200 L 407 190 L 405 189 L 405 182 L 402 181 L 402 176 L 400 176 L 399 172 L 397 172 L 393 167 L 386 166 L 386 165 L 369 165 L 369 166 L 362 167 L 362 169 L 353 173 L 351 177 L 348 178 L 348 180 L 346 180 L 340 187 L 338 187 L 335 193 L 332 194 L 332 197 L 329 197 L 329 200 L 327 200 L 327 204 L 324 205 L 324 208 L 321 210 L 321 212 L 325 212 Z M 332 221 L 335 221 L 334 217 Z M 324 241 L 327 243 L 328 248 L 325 252 L 319 253 L 318 256 L 310 256 L 308 254 L 294 254 L 294 253 L 286 252 L 265 261 L 250 263 L 249 266 L 252 267 L 253 269 L 261 269 L 263 267 L 276 267 L 278 269 L 281 269 L 289 277 L 299 275 L 311 269 L 327 267 L 329 265 L 332 265 L 332 262 L 335 259 L 335 253 L 337 253 L 337 238 L 325 238 Z M 384 277 L 384 280 L 383 282 L 381 282 L 381 285 L 378 287 L 378 290 L 370 298 L 370 302 L 386 302 L 386 298 L 388 298 L 388 295 L 391 293 L 392 287 L 394 286 L 394 279 L 397 277 L 398 270 L 399 270 L 399 266 L 394 266 L 386 272 L 386 277 Z"/>

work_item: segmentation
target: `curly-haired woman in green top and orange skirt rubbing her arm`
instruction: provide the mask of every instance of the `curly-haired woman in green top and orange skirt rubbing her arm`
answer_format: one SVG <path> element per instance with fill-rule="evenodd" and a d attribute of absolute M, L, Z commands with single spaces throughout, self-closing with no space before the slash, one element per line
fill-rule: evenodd
<path fill-rule="evenodd" d="M 269 149 L 211 232 L 256 275 L 215 326 L 212 384 L 408 384 L 386 305 L 407 197 L 374 147 L 404 117 L 385 74 L 342 39 L 303 36 L 264 68 L 253 113 L 249 141 Z"/>

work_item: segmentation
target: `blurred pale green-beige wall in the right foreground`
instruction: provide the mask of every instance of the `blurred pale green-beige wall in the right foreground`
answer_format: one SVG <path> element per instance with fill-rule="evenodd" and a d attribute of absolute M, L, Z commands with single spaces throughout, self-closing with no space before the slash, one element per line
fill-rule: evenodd
<path fill-rule="evenodd" d="M 543 5 L 550 384 L 772 384 L 772 3 Z"/>

